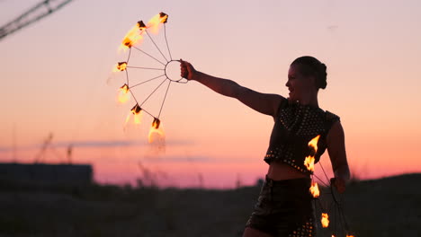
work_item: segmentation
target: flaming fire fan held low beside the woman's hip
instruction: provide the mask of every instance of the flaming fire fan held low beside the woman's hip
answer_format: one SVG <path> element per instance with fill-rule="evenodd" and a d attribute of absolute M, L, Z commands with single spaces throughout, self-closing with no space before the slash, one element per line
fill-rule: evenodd
<path fill-rule="evenodd" d="M 309 192 L 313 196 L 314 206 L 316 207 L 316 217 L 319 216 L 317 224 L 321 224 L 322 227 L 318 228 L 320 231 L 318 236 L 354 237 L 345 218 L 344 195 L 339 194 L 336 191 L 333 186 L 333 179 L 328 179 L 321 161 L 318 161 L 318 164 L 327 181 L 325 182 L 314 174 L 315 155 L 318 152 L 318 138 L 319 136 L 316 136 L 309 141 L 309 148 L 312 152 L 304 161 L 307 169 L 312 172 Z M 315 178 L 323 185 L 321 189 L 318 189 L 318 182 L 316 182 Z"/>

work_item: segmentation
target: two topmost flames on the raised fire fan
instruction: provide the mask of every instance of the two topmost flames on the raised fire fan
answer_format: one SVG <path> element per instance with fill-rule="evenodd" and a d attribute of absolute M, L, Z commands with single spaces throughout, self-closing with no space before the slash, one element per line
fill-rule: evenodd
<path fill-rule="evenodd" d="M 158 13 L 152 17 L 152 19 L 150 19 L 147 24 L 145 24 L 143 21 L 139 21 L 130 29 L 129 32 L 127 32 L 126 36 L 124 36 L 123 40 L 121 41 L 120 48 L 128 49 L 138 44 L 139 41 L 143 40 L 143 33 L 147 29 L 152 33 L 157 33 L 161 23 L 166 23 L 167 20 L 168 15 L 166 13 Z"/>

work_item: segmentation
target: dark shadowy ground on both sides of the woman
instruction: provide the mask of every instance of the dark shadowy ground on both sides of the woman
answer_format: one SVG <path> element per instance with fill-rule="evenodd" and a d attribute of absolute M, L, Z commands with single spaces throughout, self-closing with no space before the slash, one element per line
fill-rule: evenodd
<path fill-rule="evenodd" d="M 345 215 L 355 236 L 421 236 L 420 183 L 421 173 L 350 183 Z M 0 237 L 241 236 L 259 190 L 0 182 Z"/>

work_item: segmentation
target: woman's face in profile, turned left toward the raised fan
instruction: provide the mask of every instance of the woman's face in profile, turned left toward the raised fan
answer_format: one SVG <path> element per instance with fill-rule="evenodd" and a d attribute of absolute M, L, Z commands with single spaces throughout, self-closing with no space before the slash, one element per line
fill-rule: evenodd
<path fill-rule="evenodd" d="M 288 81 L 285 86 L 290 91 L 290 101 L 301 101 L 305 94 L 316 90 L 314 80 L 310 76 L 304 76 L 300 73 L 299 66 L 290 66 L 288 71 Z M 313 83 L 312 83 L 313 82 Z"/>

